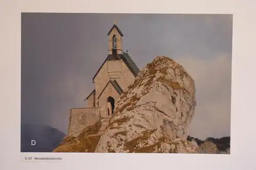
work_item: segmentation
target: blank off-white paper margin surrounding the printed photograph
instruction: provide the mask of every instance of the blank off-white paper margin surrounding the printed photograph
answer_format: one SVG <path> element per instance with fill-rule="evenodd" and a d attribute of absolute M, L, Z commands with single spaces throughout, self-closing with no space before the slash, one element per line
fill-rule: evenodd
<path fill-rule="evenodd" d="M 116 8 L 113 8 L 115 4 Z M 136 5 L 134 5 L 136 4 Z M 114 6 L 114 7 L 115 7 Z M 121 8 L 119 7 L 121 6 Z M 1 2 L 1 89 L 4 169 L 256 169 L 253 128 L 255 1 L 3 1 Z M 187 13 L 233 14 L 230 155 L 20 153 L 21 13 Z M 252 53 L 254 52 L 254 53 Z M 2 57 L 3 56 L 3 57 Z M 221 95 L 221 94 L 220 94 Z M 249 144 L 253 142 L 252 144 Z M 25 157 L 61 157 L 63 163 L 24 163 Z M 100 162 L 99 162 L 100 161 Z M 54 161 L 57 162 L 57 161 Z M 39 166 L 38 166 L 39 165 Z"/>

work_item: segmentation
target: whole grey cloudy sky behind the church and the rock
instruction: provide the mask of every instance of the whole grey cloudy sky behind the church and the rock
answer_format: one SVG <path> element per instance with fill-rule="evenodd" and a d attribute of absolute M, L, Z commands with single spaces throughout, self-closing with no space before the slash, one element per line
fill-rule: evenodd
<path fill-rule="evenodd" d="M 92 78 L 108 55 L 117 20 L 123 50 L 139 68 L 164 55 L 196 83 L 189 135 L 230 135 L 232 15 L 22 14 L 22 124 L 67 133 L 69 109 L 86 107 Z"/>

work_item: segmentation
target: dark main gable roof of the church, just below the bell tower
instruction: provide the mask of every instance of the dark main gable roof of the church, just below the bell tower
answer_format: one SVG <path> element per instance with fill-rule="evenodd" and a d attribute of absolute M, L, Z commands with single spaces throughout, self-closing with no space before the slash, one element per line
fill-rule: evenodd
<path fill-rule="evenodd" d="M 117 57 L 120 57 L 123 60 L 123 62 L 126 64 L 126 66 L 130 69 L 130 71 L 133 73 L 133 75 L 135 77 L 137 77 L 137 75 L 139 73 L 139 68 L 134 63 L 134 61 L 129 56 L 129 54 L 127 54 L 127 53 L 123 53 L 122 55 L 118 54 Z M 99 67 L 98 71 L 94 75 L 93 82 L 94 82 L 94 78 L 97 76 L 97 74 L 100 71 L 100 69 L 102 68 L 102 66 L 105 64 L 106 61 L 110 60 L 111 58 L 113 58 L 113 55 L 111 55 L 111 54 L 108 55 L 108 57 L 106 57 L 105 61 L 102 63 L 102 65 Z"/>

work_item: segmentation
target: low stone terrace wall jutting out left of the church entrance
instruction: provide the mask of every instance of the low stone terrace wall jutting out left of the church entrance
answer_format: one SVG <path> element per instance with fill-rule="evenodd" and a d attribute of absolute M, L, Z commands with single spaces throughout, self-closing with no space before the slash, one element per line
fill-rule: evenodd
<path fill-rule="evenodd" d="M 70 109 L 68 136 L 98 122 L 101 108 Z M 77 133 L 74 136 L 77 136 Z"/>

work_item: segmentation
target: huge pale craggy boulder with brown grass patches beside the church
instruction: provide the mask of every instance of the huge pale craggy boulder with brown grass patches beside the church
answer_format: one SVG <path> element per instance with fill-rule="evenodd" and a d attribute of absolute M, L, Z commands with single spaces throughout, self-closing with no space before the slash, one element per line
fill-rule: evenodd
<path fill-rule="evenodd" d="M 156 57 L 120 96 L 95 152 L 197 153 L 187 141 L 195 82 L 174 60 Z"/>

